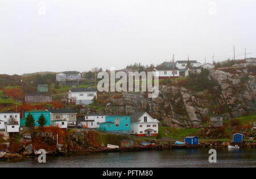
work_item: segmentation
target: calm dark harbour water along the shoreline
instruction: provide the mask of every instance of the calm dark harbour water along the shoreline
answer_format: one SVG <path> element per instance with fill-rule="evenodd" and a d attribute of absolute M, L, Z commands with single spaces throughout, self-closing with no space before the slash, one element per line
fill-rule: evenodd
<path fill-rule="evenodd" d="M 209 149 L 170 149 L 163 151 L 93 153 L 37 159 L 0 161 L 3 167 L 256 167 L 256 149 L 217 150 L 217 163 L 208 162 Z"/>

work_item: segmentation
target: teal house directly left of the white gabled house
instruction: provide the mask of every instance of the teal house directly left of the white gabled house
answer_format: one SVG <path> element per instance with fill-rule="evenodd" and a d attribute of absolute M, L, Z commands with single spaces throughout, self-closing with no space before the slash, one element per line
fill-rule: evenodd
<path fill-rule="evenodd" d="M 106 122 L 100 123 L 99 130 L 115 134 L 130 134 L 130 128 L 130 116 L 112 115 L 106 116 Z"/>

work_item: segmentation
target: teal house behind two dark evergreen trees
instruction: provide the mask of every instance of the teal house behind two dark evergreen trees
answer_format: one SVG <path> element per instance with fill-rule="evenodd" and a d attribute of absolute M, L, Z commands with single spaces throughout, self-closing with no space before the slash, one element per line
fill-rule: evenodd
<path fill-rule="evenodd" d="M 39 126 L 39 123 L 38 123 L 38 120 L 39 120 L 39 117 L 41 114 L 44 115 L 44 118 L 46 118 L 46 125 L 44 126 L 50 126 L 51 125 L 51 119 L 50 119 L 50 112 L 49 111 L 45 111 L 45 110 L 31 110 L 31 111 L 26 111 L 25 112 L 25 118 L 27 118 L 27 115 L 28 114 L 31 114 L 33 116 L 33 118 L 35 119 L 35 126 Z M 24 120 L 24 122 L 21 122 L 20 123 L 20 126 L 21 124 L 25 124 L 26 120 Z"/>

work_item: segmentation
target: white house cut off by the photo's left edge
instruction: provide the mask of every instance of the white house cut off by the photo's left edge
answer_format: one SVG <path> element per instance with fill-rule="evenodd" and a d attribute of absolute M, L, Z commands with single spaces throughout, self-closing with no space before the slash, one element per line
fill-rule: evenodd
<path fill-rule="evenodd" d="M 0 113 L 0 131 L 19 132 L 20 113 L 5 111 Z"/>

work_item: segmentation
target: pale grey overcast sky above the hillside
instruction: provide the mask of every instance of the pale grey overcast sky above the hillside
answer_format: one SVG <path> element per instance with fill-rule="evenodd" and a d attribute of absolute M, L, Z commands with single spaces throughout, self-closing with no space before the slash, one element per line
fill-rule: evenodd
<path fill-rule="evenodd" d="M 256 57 L 255 0 L 1 0 L 0 74 Z"/>

